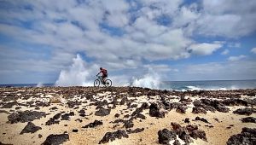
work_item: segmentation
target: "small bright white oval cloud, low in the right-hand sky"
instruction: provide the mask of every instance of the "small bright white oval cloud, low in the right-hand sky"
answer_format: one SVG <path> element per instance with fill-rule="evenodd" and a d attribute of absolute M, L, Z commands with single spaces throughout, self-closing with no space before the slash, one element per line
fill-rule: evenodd
<path fill-rule="evenodd" d="M 222 46 L 222 44 L 192 44 L 188 49 L 195 55 L 212 55 L 214 51 L 220 49 Z"/>

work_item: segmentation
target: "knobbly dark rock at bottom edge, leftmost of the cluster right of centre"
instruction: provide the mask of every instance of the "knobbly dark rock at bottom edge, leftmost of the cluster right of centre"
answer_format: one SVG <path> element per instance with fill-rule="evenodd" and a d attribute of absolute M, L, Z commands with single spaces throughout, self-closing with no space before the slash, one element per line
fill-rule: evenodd
<path fill-rule="evenodd" d="M 158 131 L 158 142 L 160 144 L 169 144 L 171 140 L 176 140 L 177 135 L 175 131 L 168 131 L 164 129 L 162 131 Z"/>

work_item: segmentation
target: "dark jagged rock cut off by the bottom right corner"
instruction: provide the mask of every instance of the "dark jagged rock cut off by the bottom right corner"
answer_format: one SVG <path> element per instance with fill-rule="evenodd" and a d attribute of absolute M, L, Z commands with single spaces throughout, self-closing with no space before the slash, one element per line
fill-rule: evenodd
<path fill-rule="evenodd" d="M 230 136 L 227 145 L 256 144 L 256 129 L 242 128 L 240 134 Z"/>

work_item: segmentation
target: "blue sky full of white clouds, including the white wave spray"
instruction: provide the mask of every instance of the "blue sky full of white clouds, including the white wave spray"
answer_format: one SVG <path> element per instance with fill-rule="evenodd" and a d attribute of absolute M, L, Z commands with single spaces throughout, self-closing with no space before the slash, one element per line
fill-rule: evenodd
<path fill-rule="evenodd" d="M 255 0 L 0 0 L 0 84 L 256 78 Z"/>

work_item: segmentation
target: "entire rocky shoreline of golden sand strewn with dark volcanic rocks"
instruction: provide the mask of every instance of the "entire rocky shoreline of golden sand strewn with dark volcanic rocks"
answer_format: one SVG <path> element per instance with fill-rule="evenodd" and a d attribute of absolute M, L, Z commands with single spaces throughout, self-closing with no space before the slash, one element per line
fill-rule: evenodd
<path fill-rule="evenodd" d="M 0 144 L 256 144 L 256 89 L 0 88 Z"/>

